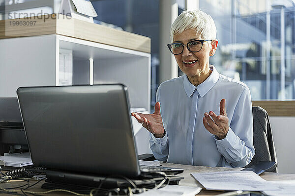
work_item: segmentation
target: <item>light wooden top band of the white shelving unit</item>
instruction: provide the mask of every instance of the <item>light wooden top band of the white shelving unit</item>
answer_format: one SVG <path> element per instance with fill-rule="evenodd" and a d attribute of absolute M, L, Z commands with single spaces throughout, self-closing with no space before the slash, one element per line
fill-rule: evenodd
<path fill-rule="evenodd" d="M 22 25 L 16 25 L 22 24 Z M 24 24 L 24 25 L 23 25 Z M 59 34 L 91 42 L 150 53 L 151 39 L 61 14 L 0 21 L 0 39 Z"/>

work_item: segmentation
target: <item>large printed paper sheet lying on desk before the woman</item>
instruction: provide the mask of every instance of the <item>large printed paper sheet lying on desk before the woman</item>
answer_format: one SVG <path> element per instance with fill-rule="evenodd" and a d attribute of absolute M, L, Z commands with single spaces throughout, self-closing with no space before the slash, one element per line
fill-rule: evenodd
<path fill-rule="evenodd" d="M 279 190 L 252 171 L 192 173 L 192 175 L 208 190 Z"/>

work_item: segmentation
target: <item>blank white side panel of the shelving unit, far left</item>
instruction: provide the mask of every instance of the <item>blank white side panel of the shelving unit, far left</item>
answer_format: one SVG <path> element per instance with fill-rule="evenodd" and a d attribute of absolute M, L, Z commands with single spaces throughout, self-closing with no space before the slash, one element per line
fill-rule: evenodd
<path fill-rule="evenodd" d="M 56 36 L 0 40 L 0 97 L 16 97 L 20 86 L 53 86 Z"/>

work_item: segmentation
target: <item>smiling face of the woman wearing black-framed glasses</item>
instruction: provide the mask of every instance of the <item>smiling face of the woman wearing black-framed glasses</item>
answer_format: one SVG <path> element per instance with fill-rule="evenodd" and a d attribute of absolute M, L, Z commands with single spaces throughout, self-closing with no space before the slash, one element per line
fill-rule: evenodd
<path fill-rule="evenodd" d="M 186 45 L 188 42 L 198 39 L 202 38 L 200 35 L 196 35 L 196 29 L 188 29 L 175 35 L 173 42 Z M 198 78 L 198 80 L 205 81 L 208 77 L 210 74 L 209 56 L 214 54 L 217 43 L 217 40 L 204 42 L 199 52 L 190 52 L 185 46 L 181 54 L 174 55 L 180 70 L 188 76 L 190 82 L 192 82 L 190 78 Z M 204 79 L 203 77 L 206 78 Z"/>

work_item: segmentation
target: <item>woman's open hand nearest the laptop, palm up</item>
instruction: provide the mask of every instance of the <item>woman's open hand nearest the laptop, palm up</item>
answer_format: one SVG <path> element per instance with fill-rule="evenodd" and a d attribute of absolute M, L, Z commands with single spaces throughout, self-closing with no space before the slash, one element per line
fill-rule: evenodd
<path fill-rule="evenodd" d="M 160 113 L 160 102 L 155 104 L 155 112 L 152 114 L 142 114 L 132 112 L 131 116 L 134 116 L 138 123 L 141 123 L 149 132 L 154 134 L 156 138 L 164 137 L 164 127 L 162 122 L 162 116 Z"/>

